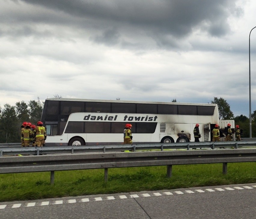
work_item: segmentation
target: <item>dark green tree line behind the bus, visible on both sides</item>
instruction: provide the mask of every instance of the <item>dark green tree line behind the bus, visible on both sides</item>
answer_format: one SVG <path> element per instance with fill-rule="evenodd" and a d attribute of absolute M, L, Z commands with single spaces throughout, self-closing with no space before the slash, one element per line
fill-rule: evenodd
<path fill-rule="evenodd" d="M 61 97 L 54 95 L 54 97 Z M 120 98 L 118 98 L 120 100 Z M 171 102 L 177 102 L 172 99 Z M 239 125 L 243 129 L 243 138 L 249 138 L 249 118 L 240 115 L 234 117 L 233 112 L 230 110 L 230 105 L 222 97 L 214 97 L 211 103 L 216 103 L 219 109 L 220 120 L 235 120 L 235 125 Z M 29 103 L 24 101 L 17 102 L 14 106 L 5 104 L 2 108 L 0 106 L 0 143 L 17 143 L 20 142 L 20 126 L 26 122 L 35 124 L 41 120 L 44 102 L 38 97 L 37 100 L 30 100 Z M 256 110 L 251 114 L 252 130 L 256 130 Z M 252 137 L 256 137 L 256 133 L 252 132 Z"/>

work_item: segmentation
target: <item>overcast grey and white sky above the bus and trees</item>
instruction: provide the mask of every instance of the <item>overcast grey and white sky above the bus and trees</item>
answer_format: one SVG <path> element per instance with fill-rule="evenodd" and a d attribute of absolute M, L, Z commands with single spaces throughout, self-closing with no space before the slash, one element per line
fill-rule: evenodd
<path fill-rule="evenodd" d="M 249 116 L 254 0 L 1 0 L 0 106 L 39 97 L 207 103 Z M 251 32 L 256 110 L 256 28 Z"/>

